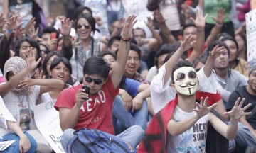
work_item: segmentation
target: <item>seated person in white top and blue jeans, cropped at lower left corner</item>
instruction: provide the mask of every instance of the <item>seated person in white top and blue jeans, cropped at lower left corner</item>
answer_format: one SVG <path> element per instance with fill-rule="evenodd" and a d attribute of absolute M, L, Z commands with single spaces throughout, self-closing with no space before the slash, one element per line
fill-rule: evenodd
<path fill-rule="evenodd" d="M 0 142 L 15 140 L 11 146 L 4 149 L 3 153 L 8 152 L 36 152 L 36 141 L 28 132 L 23 132 L 16 123 L 13 115 L 4 105 L 0 96 Z"/>

